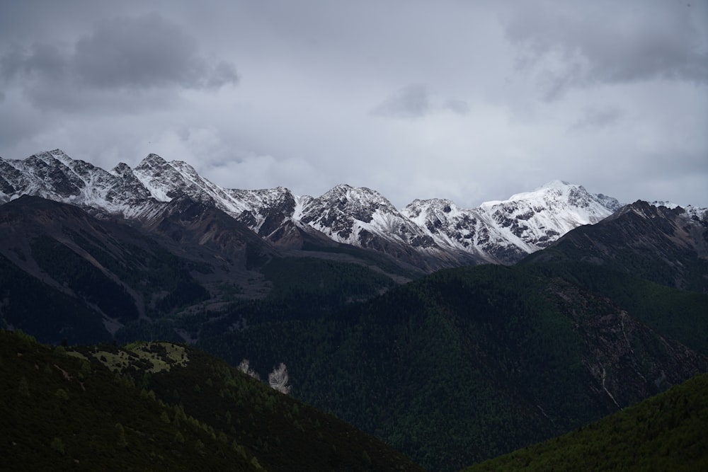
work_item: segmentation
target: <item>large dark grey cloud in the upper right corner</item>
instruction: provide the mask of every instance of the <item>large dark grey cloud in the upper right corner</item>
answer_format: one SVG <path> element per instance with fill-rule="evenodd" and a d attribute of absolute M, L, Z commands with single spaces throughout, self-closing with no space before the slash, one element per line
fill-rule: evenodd
<path fill-rule="evenodd" d="M 708 83 L 704 8 L 678 1 L 524 5 L 506 17 L 506 35 L 520 48 L 520 69 L 538 72 L 547 100 L 593 84 Z"/>

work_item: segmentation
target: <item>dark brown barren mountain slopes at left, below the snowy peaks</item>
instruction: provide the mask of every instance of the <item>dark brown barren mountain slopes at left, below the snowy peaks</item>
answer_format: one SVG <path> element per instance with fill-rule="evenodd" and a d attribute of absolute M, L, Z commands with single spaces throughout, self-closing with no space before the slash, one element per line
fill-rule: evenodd
<path fill-rule="evenodd" d="M 146 232 L 40 197 L 0 206 L 6 326 L 57 343 L 103 340 L 126 323 L 218 301 L 219 286 L 263 289 L 249 273 L 274 250 L 238 221 L 187 200 L 152 221 Z"/>

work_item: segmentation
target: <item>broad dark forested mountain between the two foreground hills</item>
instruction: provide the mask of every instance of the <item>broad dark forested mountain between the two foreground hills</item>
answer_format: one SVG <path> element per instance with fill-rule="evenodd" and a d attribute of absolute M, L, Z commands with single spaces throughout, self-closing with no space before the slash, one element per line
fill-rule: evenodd
<path fill-rule="evenodd" d="M 663 295 L 687 323 L 706 313 L 705 295 Z M 282 360 L 292 395 L 433 470 L 567 432 L 708 367 L 643 313 L 548 267 L 443 270 L 321 316 L 302 303 L 266 300 L 247 330 L 224 330 L 245 316 L 236 306 L 197 345 L 232 363 L 247 357 L 261 374 Z M 654 322 L 671 323 L 661 313 Z M 704 351 L 700 336 L 687 340 Z"/>

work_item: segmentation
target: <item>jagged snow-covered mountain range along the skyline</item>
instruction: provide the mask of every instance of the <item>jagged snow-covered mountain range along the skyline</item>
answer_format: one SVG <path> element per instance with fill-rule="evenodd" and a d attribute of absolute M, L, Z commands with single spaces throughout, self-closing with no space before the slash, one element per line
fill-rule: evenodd
<path fill-rule="evenodd" d="M 375 190 L 337 185 L 319 197 L 287 188 L 235 190 L 210 182 L 183 161 L 149 154 L 111 171 L 63 151 L 0 159 L 0 202 L 36 195 L 94 215 L 161 218 L 177 197 L 226 212 L 275 246 L 302 249 L 314 238 L 384 253 L 423 271 L 475 263 L 515 263 L 621 205 L 560 180 L 508 200 L 464 209 L 450 200 L 414 200 L 400 211 Z"/>

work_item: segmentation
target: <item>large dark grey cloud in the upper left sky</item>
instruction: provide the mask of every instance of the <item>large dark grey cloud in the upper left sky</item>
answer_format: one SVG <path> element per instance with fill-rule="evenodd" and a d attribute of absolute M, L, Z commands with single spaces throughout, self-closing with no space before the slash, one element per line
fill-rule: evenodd
<path fill-rule="evenodd" d="M 16 81 L 38 108 L 60 109 L 90 106 L 86 98 L 101 93 L 97 102 L 110 103 L 110 91 L 217 89 L 239 79 L 233 64 L 207 60 L 193 37 L 158 13 L 98 23 L 74 47 L 13 46 L 0 57 L 0 77 Z"/>

